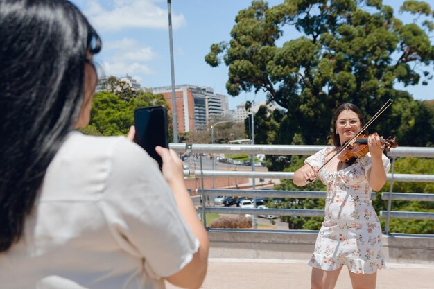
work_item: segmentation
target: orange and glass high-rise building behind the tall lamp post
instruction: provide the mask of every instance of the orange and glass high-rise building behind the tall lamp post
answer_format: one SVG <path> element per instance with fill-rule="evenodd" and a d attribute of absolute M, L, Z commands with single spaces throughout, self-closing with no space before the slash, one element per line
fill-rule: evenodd
<path fill-rule="evenodd" d="M 172 87 L 154 87 L 154 94 L 162 94 L 172 104 Z M 227 110 L 227 96 L 214 94 L 211 87 L 176 85 L 176 114 L 178 132 L 205 130 L 210 119 L 221 116 Z M 171 113 L 171 109 L 169 108 Z"/>

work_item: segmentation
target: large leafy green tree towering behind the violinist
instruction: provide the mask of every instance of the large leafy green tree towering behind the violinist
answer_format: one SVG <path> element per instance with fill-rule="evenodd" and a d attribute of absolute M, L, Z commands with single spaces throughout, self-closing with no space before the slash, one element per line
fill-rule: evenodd
<path fill-rule="evenodd" d="M 414 104 L 411 96 L 393 85 L 417 85 L 421 80 L 426 85 L 431 80 L 431 72 L 419 67 L 434 62 L 434 46 L 427 34 L 434 29 L 434 13 L 424 1 L 406 1 L 401 11 L 425 19 L 422 27 L 403 24 L 379 0 L 287 0 L 272 8 L 265 1 L 252 1 L 238 12 L 230 42 L 212 44 L 205 61 L 211 67 L 222 61 L 229 67 L 226 87 L 232 96 L 263 90 L 268 100 L 288 110 L 281 125 L 290 130 L 281 143 L 293 143 L 294 137 L 301 137 L 303 143 L 326 143 L 333 110 L 340 103 L 358 105 L 370 119 L 385 100 L 403 97 L 414 107 L 412 128 L 404 128 L 406 119 L 397 126 L 396 118 L 389 118 L 403 107 L 397 101 L 371 131 L 416 133 L 419 125 L 425 125 L 431 137 L 432 111 L 425 110 L 425 119 L 419 120 L 417 107 L 424 105 Z M 285 26 L 295 27 L 302 36 L 277 46 Z M 415 145 L 415 138 L 407 140 Z M 428 139 L 424 141 L 425 146 Z"/>

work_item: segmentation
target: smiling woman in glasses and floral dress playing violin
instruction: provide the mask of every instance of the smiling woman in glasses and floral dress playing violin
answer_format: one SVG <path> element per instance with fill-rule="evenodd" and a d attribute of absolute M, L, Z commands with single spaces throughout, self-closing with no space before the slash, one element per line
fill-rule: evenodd
<path fill-rule="evenodd" d="M 309 261 L 314 289 L 333 289 L 342 265 L 347 265 L 354 289 L 375 288 L 376 270 L 386 268 L 381 226 L 370 199 L 372 190 L 379 191 L 384 186 L 390 169 L 380 137 L 370 135 L 369 152 L 352 162 L 331 159 L 363 125 L 365 121 L 356 105 L 340 105 L 333 116 L 333 147 L 308 157 L 294 173 L 297 186 L 305 186 L 316 177 L 327 186 L 324 222 Z M 326 161 L 329 162 L 318 171 Z"/>

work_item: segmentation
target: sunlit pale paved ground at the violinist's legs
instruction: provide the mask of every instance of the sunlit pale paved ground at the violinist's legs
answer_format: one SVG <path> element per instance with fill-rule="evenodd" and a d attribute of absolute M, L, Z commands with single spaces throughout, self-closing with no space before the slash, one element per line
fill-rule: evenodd
<path fill-rule="evenodd" d="M 433 264 L 389 264 L 379 270 L 377 289 L 433 289 Z M 210 259 L 204 289 L 302 289 L 311 288 L 311 267 L 301 260 Z M 336 289 L 351 288 L 342 269 Z M 167 283 L 167 289 L 177 289 Z"/>

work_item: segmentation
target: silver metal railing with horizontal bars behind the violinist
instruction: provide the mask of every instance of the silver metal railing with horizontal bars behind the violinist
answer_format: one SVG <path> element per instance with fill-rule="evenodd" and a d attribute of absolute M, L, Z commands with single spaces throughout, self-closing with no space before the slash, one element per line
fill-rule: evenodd
<path fill-rule="evenodd" d="M 202 154 L 204 153 L 227 153 L 227 154 L 266 154 L 266 155 L 313 155 L 318 150 L 327 146 L 275 146 L 275 145 L 215 145 L 215 144 L 193 144 L 171 143 L 171 148 L 177 152 L 187 152 L 198 154 L 200 156 L 200 170 L 184 172 L 200 176 L 202 189 L 197 192 L 205 197 L 212 195 L 243 195 L 245 197 L 267 197 L 267 198 L 325 198 L 325 192 L 322 191 L 257 191 L 257 190 L 222 190 L 222 189 L 205 189 L 204 177 L 248 177 L 248 178 L 268 178 L 268 179 L 293 179 L 292 172 L 261 172 L 261 171 L 223 171 L 223 170 L 203 170 Z M 387 174 L 390 182 L 389 192 L 381 193 L 383 200 L 388 200 L 387 211 L 380 211 L 379 216 L 386 219 L 385 234 L 388 234 L 390 218 L 407 218 L 407 219 L 424 219 L 434 220 L 434 213 L 429 212 L 409 212 L 409 211 L 391 211 L 392 200 L 411 200 L 433 202 L 434 193 L 394 193 L 394 182 L 434 182 L 434 175 L 419 174 L 397 174 L 394 173 L 394 164 L 397 157 L 424 157 L 434 158 L 434 148 L 421 147 L 398 147 L 390 150 L 388 157 L 392 159 L 391 173 Z M 372 193 L 371 199 L 375 200 L 376 193 Z M 205 204 L 205 202 L 203 203 Z M 279 216 L 305 216 L 320 217 L 324 216 L 324 210 L 313 209 L 245 209 L 234 207 L 200 207 L 202 220 L 206 224 L 206 213 L 232 213 L 232 214 L 252 214 L 252 215 L 279 215 Z"/>

